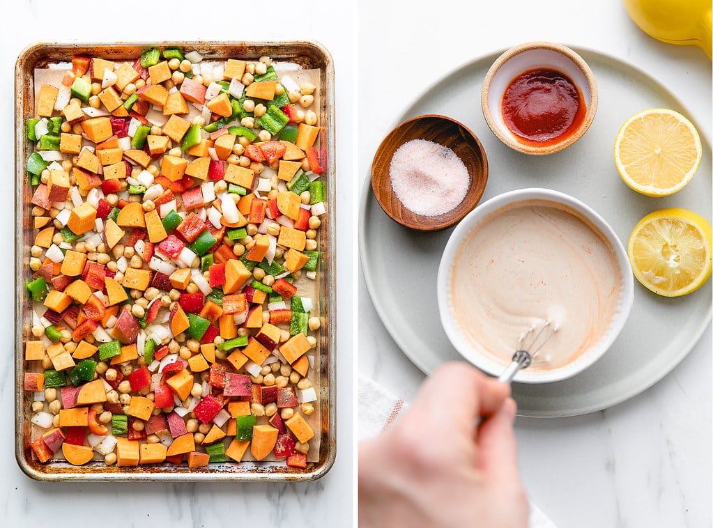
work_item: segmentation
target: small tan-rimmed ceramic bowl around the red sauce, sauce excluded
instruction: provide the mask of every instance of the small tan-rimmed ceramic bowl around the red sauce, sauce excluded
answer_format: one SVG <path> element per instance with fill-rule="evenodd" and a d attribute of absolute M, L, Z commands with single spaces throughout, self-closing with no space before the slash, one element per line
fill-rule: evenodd
<path fill-rule="evenodd" d="M 587 105 L 584 120 L 575 133 L 553 145 L 520 143 L 503 120 L 502 101 L 506 89 L 515 77 L 535 68 L 550 68 L 565 73 L 578 86 Z M 597 113 L 598 100 L 594 73 L 584 59 L 567 46 L 551 42 L 529 42 L 510 48 L 488 70 L 481 90 L 483 116 L 493 134 L 508 147 L 533 155 L 558 152 L 581 138 Z"/>

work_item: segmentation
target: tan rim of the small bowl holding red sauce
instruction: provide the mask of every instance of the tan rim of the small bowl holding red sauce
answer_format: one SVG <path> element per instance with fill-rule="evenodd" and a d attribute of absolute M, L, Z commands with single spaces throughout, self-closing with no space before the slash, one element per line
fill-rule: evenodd
<path fill-rule="evenodd" d="M 537 51 L 539 49 L 550 51 L 553 53 L 559 53 L 565 58 L 568 58 L 569 61 L 574 64 L 574 66 L 579 68 L 580 72 L 587 81 L 587 86 L 580 86 L 580 89 L 583 90 L 583 93 L 588 92 L 588 94 L 585 93 L 585 98 L 587 98 L 588 95 L 590 99 L 589 104 L 587 106 L 587 113 L 585 114 L 584 120 L 580 125 L 580 128 L 578 128 L 578 130 L 576 130 L 575 133 L 573 133 L 572 135 L 560 141 L 560 143 L 555 143 L 554 145 L 545 145 L 542 147 L 538 147 L 535 145 L 525 145 L 515 140 L 510 131 L 503 130 L 501 126 L 496 122 L 495 118 L 493 118 L 494 110 L 491 110 L 490 104 L 491 83 L 493 81 L 493 78 L 501 69 L 501 67 L 505 63 L 510 61 L 512 58 L 520 55 L 521 53 L 528 53 L 531 51 Z M 502 95 L 498 99 L 501 98 Z M 579 53 L 574 51 L 572 48 L 568 48 L 563 44 L 554 42 L 525 42 L 522 44 L 518 44 L 518 46 L 513 46 L 512 48 L 509 48 L 508 50 L 503 52 L 501 56 L 496 58 L 496 61 L 493 62 L 493 65 L 488 69 L 488 72 L 486 73 L 486 76 L 483 79 L 483 86 L 481 88 L 481 108 L 483 110 L 483 117 L 485 118 L 486 123 L 488 123 L 488 127 L 490 127 L 493 134 L 496 135 L 496 138 L 501 140 L 505 145 L 508 145 L 508 147 L 511 147 L 513 150 L 518 150 L 518 152 L 523 152 L 525 154 L 530 155 L 553 154 L 554 152 L 559 152 L 560 150 L 563 150 L 565 147 L 573 145 L 573 143 L 577 142 L 589 129 L 590 125 L 592 124 L 592 121 L 594 120 L 594 116 L 597 113 L 598 105 L 599 90 L 597 89 L 597 81 L 588 63 L 579 55 Z"/>

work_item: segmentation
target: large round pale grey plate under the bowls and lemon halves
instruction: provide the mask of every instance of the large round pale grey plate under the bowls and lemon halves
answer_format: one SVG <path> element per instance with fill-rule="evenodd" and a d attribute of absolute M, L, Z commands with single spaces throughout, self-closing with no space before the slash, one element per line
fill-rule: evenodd
<path fill-rule="evenodd" d="M 650 198 L 630 190 L 612 160 L 617 131 L 633 113 L 672 108 L 691 119 L 700 132 L 694 117 L 665 86 L 635 66 L 595 51 L 575 51 L 593 69 L 600 101 L 588 132 L 562 152 L 541 157 L 519 154 L 503 145 L 486 125 L 480 108 L 481 86 L 501 52 L 478 58 L 437 81 L 401 115 L 399 123 L 439 113 L 471 128 L 483 143 L 490 166 L 483 201 L 523 187 L 566 192 L 601 214 L 624 244 L 635 224 L 655 209 L 685 207 L 710 219 L 708 138 L 701 138 L 703 159 L 697 176 L 671 197 Z M 452 229 L 425 233 L 396 224 L 376 203 L 368 177 L 360 213 L 359 247 L 366 286 L 394 341 L 425 373 L 444 361 L 461 359 L 446 338 L 436 304 L 438 264 Z M 594 366 L 566 381 L 513 385 L 520 415 L 580 415 L 641 393 L 669 373 L 697 343 L 711 321 L 711 305 L 711 281 L 679 299 L 656 296 L 637 283 L 624 330 Z"/>

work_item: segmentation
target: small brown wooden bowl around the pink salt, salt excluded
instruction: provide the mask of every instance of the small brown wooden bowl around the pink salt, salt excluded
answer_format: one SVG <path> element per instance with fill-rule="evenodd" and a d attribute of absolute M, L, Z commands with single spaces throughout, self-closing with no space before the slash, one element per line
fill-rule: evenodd
<path fill-rule="evenodd" d="M 463 201 L 449 212 L 433 217 L 416 214 L 404 207 L 391 187 L 389 167 L 394 152 L 407 141 L 416 139 L 450 148 L 466 165 L 470 176 L 468 192 Z M 468 127 L 443 115 L 419 115 L 401 123 L 381 141 L 371 162 L 371 189 L 381 209 L 394 222 L 417 231 L 438 231 L 456 224 L 476 207 L 487 182 L 488 158 L 483 145 Z"/>

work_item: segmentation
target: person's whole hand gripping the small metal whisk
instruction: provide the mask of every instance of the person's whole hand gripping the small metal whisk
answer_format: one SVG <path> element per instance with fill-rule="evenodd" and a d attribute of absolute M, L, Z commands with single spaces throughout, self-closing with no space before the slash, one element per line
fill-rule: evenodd
<path fill-rule="evenodd" d="M 359 445 L 359 526 L 527 527 L 509 396 L 466 363 L 438 368 L 404 416 Z"/>

